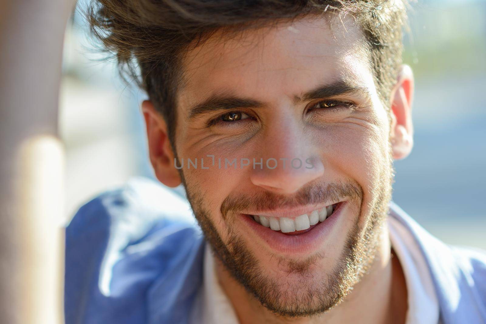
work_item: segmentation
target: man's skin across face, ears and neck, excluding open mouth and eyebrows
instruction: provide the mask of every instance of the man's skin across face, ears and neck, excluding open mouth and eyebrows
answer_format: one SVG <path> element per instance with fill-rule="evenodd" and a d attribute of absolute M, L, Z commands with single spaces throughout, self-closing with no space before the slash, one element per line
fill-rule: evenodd
<path fill-rule="evenodd" d="M 169 186 L 184 183 L 240 322 L 403 323 L 404 278 L 398 259 L 390 259 L 385 220 L 392 161 L 412 148 L 410 68 L 401 68 L 384 104 L 364 37 L 350 19 L 330 26 L 325 17 L 309 16 L 221 36 L 213 35 L 184 61 L 177 158 L 299 157 L 311 158 L 314 166 L 177 170 L 164 120 L 150 101 L 142 105 L 156 176 Z M 358 90 L 304 96 L 319 85 L 343 83 Z M 189 118 L 191 107 L 211 95 L 258 104 Z M 336 107 L 318 105 L 323 102 Z M 228 112 L 241 119 L 224 121 Z M 345 204 L 335 224 L 311 246 L 277 249 L 243 218 L 248 210 L 290 212 L 338 201 Z"/>

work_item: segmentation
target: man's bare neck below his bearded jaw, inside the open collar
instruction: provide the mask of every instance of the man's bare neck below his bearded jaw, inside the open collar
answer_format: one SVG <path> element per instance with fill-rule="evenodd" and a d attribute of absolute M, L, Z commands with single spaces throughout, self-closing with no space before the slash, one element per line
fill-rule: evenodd
<path fill-rule="evenodd" d="M 341 304 L 315 316 L 284 318 L 275 315 L 261 306 L 260 302 L 228 273 L 217 258 L 215 265 L 220 285 L 232 303 L 241 324 L 405 323 L 405 278 L 398 258 L 392 257 L 386 226 L 369 272 L 353 287 Z"/>

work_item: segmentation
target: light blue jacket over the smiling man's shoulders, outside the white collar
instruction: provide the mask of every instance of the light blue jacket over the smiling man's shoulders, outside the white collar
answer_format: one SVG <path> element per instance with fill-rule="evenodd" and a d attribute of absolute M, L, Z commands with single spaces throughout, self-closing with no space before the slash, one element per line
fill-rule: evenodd
<path fill-rule="evenodd" d="M 486 323 L 486 254 L 442 243 L 394 203 L 389 217 L 427 260 L 441 323 Z M 187 323 L 204 245 L 189 203 L 152 180 L 94 198 L 66 229 L 66 324 Z"/>

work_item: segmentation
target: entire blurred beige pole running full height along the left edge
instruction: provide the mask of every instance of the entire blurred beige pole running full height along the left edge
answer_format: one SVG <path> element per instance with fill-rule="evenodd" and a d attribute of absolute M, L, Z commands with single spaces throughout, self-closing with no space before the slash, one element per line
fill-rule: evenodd
<path fill-rule="evenodd" d="M 74 0 L 0 0 L 0 323 L 62 323 L 57 106 Z"/>

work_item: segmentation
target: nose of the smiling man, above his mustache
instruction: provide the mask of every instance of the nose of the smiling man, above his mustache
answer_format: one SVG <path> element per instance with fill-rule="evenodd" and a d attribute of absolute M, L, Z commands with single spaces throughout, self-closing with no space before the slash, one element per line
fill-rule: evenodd
<path fill-rule="evenodd" d="M 268 126 L 255 159 L 250 180 L 277 194 L 293 194 L 324 174 L 312 137 L 306 136 L 298 122 L 287 119 Z M 260 164 L 261 162 L 261 164 Z"/>

